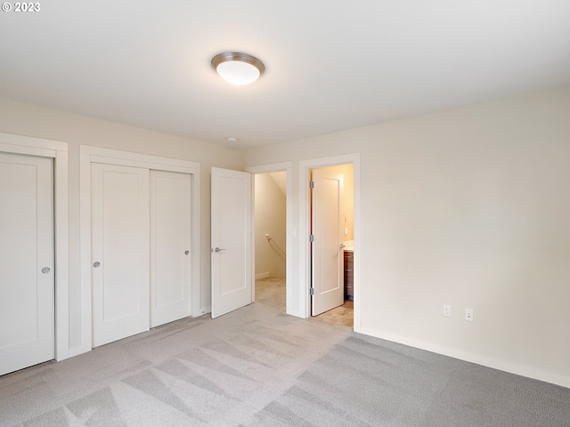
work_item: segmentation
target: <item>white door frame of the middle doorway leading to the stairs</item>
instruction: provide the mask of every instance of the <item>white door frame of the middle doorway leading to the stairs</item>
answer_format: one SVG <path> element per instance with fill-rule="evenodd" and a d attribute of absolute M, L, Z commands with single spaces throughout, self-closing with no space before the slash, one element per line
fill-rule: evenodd
<path fill-rule="evenodd" d="M 292 208 L 292 201 L 293 201 L 293 173 L 292 173 L 292 165 L 291 162 L 283 162 L 283 163 L 273 163 L 271 165 L 259 165 L 259 166 L 251 166 L 246 167 L 246 172 L 256 175 L 257 173 L 272 173 L 272 172 L 286 172 L 287 173 L 287 194 L 286 194 L 286 210 L 287 213 L 285 214 L 286 217 L 286 230 L 285 236 L 287 236 L 285 242 L 285 271 L 287 275 L 287 285 L 286 285 L 286 312 L 291 316 L 297 316 L 298 318 L 303 317 L 302 311 L 298 309 L 298 302 L 297 298 L 295 298 L 295 294 L 298 292 L 297 284 L 295 284 L 292 280 L 293 278 L 293 265 L 290 262 L 290 254 L 293 254 L 293 239 L 291 238 L 291 230 L 293 229 L 293 208 Z M 255 177 L 254 177 L 255 178 Z M 255 277 L 256 271 L 256 214 L 255 214 L 255 205 L 256 205 L 256 191 L 255 191 L 256 180 L 251 180 L 251 200 L 252 200 L 252 224 L 251 224 L 251 260 L 252 260 L 252 271 Z M 295 237 L 295 236 L 293 236 Z M 256 301 L 256 281 L 253 280 L 252 286 L 252 301 Z"/>

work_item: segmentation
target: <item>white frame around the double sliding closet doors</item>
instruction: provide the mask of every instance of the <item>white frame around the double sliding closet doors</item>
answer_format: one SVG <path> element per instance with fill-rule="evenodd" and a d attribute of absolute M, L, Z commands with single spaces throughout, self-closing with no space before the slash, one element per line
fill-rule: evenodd
<path fill-rule="evenodd" d="M 152 170 L 191 174 L 191 316 L 204 314 L 201 310 L 200 289 L 200 165 L 189 160 L 147 154 L 79 146 L 79 212 L 81 238 L 81 349 L 93 348 L 92 280 L 91 280 L 91 164 L 124 165 Z M 149 289 L 149 292 L 150 289 Z M 149 310 L 151 307 L 149 306 Z M 149 325 L 150 326 L 150 325 Z"/>

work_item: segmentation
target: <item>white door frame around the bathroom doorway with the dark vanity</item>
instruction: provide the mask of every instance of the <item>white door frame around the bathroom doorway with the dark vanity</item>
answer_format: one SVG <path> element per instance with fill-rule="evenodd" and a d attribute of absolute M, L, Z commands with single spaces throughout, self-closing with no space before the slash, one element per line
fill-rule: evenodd
<path fill-rule="evenodd" d="M 310 191 L 311 169 L 352 164 L 354 168 L 354 330 L 361 327 L 361 221 L 360 221 L 360 153 L 321 157 L 299 162 L 299 307 L 304 318 L 311 316 L 311 244 Z"/>

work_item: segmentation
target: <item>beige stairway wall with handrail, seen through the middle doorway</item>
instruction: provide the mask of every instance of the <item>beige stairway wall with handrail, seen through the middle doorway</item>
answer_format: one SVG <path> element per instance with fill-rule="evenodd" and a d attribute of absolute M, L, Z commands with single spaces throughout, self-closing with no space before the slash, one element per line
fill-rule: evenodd
<path fill-rule="evenodd" d="M 285 172 L 281 172 L 285 173 Z M 257 173 L 256 180 L 256 275 L 269 273 L 272 278 L 286 276 L 287 198 L 270 173 Z M 273 241 L 268 241 L 268 233 Z"/>

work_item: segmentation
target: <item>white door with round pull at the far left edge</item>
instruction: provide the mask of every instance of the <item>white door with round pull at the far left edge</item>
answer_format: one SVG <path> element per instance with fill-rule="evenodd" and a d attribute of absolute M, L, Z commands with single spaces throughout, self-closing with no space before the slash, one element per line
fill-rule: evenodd
<path fill-rule="evenodd" d="M 0 154 L 0 375 L 53 359 L 53 160 Z"/>

